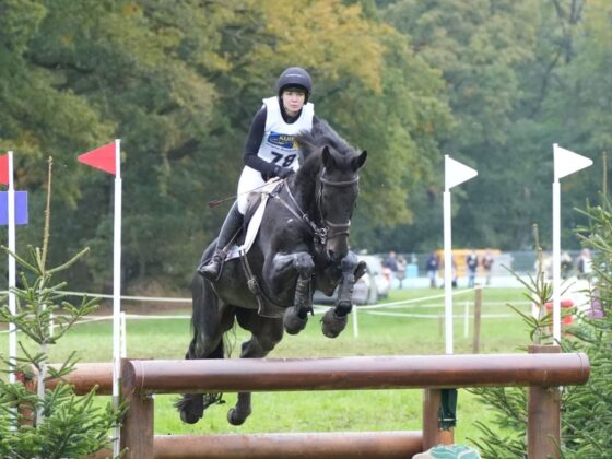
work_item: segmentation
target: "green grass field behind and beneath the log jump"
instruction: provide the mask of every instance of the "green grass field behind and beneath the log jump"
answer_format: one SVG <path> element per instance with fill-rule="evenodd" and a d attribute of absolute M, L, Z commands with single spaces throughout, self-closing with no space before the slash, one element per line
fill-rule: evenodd
<path fill-rule="evenodd" d="M 460 291 L 459 291 L 460 292 Z M 285 334 L 270 357 L 321 357 L 348 355 L 444 354 L 443 291 L 414 289 L 392 291 L 387 303 L 422 298 L 393 309 L 377 309 L 393 316 L 375 315 L 358 309 L 358 338 L 353 336 L 351 321 L 346 330 L 330 340 L 320 331 L 320 316 L 311 317 L 298 336 Z M 438 296 L 438 297 L 433 297 Z M 455 314 L 462 315 L 464 305 L 473 306 L 473 292 L 455 297 Z M 522 290 L 486 289 L 483 291 L 481 353 L 522 352 L 528 333 L 518 315 L 506 303 L 528 310 Z M 374 311 L 374 313 L 376 313 Z M 157 313 L 156 313 L 157 314 Z M 190 310 L 165 313 L 167 319 L 128 321 L 128 356 L 133 358 L 183 358 L 190 340 L 189 320 L 173 318 L 189 315 Z M 398 314 L 427 315 L 433 318 L 408 318 Z M 511 315 L 494 318 L 486 315 Z M 472 323 L 468 338 L 463 336 L 463 319 L 455 320 L 455 353 L 472 352 Z M 7 334 L 0 334 L 0 353 L 5 355 Z M 247 334 L 235 329 L 229 333 L 232 355 Z M 111 358 L 111 323 L 97 321 L 76 326 L 59 344 L 49 350 L 50 360 L 59 362 L 76 350 L 82 362 L 104 362 Z M 235 395 L 224 395 L 226 404 L 211 407 L 196 425 L 183 424 L 173 408 L 176 396 L 155 397 L 155 432 L 158 434 L 204 433 L 267 433 L 327 431 L 397 431 L 421 429 L 422 390 L 353 390 L 327 392 L 256 393 L 252 414 L 245 425 L 231 426 L 226 412 L 235 402 Z M 480 407 L 466 390 L 459 392 L 457 442 L 475 437 L 474 420 L 486 421 L 491 414 Z"/>

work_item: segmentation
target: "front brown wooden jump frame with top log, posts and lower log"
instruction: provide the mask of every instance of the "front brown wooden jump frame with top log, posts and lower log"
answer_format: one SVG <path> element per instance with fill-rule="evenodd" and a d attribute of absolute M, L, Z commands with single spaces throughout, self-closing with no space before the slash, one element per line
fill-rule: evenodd
<path fill-rule="evenodd" d="M 127 457 L 131 458 L 199 457 L 198 454 L 207 450 L 210 450 L 211 455 L 216 451 L 214 454 L 217 456 L 212 457 L 254 457 L 256 447 L 268 448 L 267 457 L 317 457 L 311 454 L 314 445 L 319 442 L 314 440 L 313 436 L 318 434 L 154 436 L 152 396 L 227 391 L 426 388 L 426 399 L 429 403 L 424 403 L 422 439 L 416 433 L 396 433 L 395 436 L 387 434 L 387 437 L 386 434 L 380 434 L 377 446 L 368 451 L 368 455 L 378 457 L 407 457 L 410 451 L 417 452 L 440 443 L 440 432 L 436 423 L 432 422 L 437 415 L 437 409 L 435 403 L 431 405 L 432 400 L 439 400 L 440 389 L 519 386 L 531 388 L 529 457 L 557 457 L 554 444 L 560 442 L 560 404 L 556 388 L 585 384 L 589 373 L 588 358 L 581 353 L 125 361 L 122 395 L 129 400 L 130 408 L 123 420 L 121 443 L 123 448 L 129 448 Z M 346 448 L 351 447 L 351 437 L 344 438 L 344 435 L 328 434 L 326 444 L 326 434 L 322 434 L 320 442 L 323 442 L 327 448 L 326 457 L 342 457 L 342 454 L 346 454 Z M 369 438 L 372 435 L 376 434 L 367 434 Z M 233 439 L 223 442 L 222 438 Z M 184 442 L 186 439 L 187 442 Z M 357 442 L 354 438 L 353 440 Z M 302 446 L 294 446 L 296 450 L 291 447 L 283 450 L 292 442 Z M 180 447 L 176 444 L 180 444 Z M 363 445 L 366 444 L 368 442 L 364 440 Z M 236 449 L 236 445 L 242 446 Z M 178 451 L 183 452 L 179 455 Z"/>

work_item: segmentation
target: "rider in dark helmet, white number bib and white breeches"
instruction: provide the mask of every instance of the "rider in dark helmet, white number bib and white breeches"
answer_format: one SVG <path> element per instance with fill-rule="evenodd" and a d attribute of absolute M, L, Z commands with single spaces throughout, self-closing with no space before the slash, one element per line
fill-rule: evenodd
<path fill-rule="evenodd" d="M 245 143 L 238 199 L 225 217 L 213 257 L 198 267 L 199 274 L 213 281 L 219 279 L 228 244 L 243 225 L 248 191 L 261 187 L 270 178 L 287 178 L 299 167 L 294 137 L 301 131 L 309 131 L 318 122 L 315 106 L 308 102 L 311 94 L 313 81 L 308 72 L 290 67 L 279 78 L 276 95 L 263 99 Z"/>

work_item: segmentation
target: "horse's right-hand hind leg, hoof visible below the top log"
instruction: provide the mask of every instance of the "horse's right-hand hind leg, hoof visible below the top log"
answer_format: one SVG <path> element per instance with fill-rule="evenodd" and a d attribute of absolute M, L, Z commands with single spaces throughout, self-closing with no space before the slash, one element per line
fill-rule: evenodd
<path fill-rule="evenodd" d="M 262 358 L 283 338 L 282 319 L 261 317 L 250 309 L 238 309 L 236 317 L 240 327 L 251 332 L 250 339 L 242 345 L 240 358 Z M 240 425 L 250 413 L 250 392 L 238 392 L 236 405 L 227 412 L 227 421 Z"/>

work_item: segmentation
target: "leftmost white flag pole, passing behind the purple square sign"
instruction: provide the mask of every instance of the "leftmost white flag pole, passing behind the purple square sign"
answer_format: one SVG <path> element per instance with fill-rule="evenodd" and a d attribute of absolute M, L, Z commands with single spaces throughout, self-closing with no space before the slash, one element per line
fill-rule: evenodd
<path fill-rule="evenodd" d="M 15 237 L 15 188 L 13 184 L 13 152 L 9 152 L 9 200 L 7 205 L 7 216 L 9 221 L 9 250 L 16 252 Z M 16 315 L 16 297 L 13 289 L 16 286 L 16 266 L 15 257 L 9 255 L 9 311 L 12 316 Z M 17 331 L 14 322 L 9 322 L 9 382 L 16 380 L 14 373 L 17 356 Z"/>

